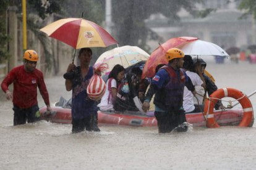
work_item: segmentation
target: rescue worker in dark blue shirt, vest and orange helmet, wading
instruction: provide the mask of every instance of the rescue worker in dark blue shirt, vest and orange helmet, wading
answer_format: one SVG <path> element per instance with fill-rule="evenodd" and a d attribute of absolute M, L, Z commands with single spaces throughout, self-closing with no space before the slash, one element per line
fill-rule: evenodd
<path fill-rule="evenodd" d="M 165 54 L 168 65 L 161 67 L 151 81 L 142 109 L 147 111 L 150 100 L 155 94 L 155 116 L 158 132 L 166 133 L 177 127 L 177 132 L 186 132 L 186 116 L 182 107 L 184 86 L 195 94 L 195 87 L 182 70 L 184 52 L 177 48 L 169 49 Z"/>

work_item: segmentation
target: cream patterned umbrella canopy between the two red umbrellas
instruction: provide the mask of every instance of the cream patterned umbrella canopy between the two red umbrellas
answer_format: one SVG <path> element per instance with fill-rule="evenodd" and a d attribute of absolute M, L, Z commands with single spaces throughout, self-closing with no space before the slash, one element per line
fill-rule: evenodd
<path fill-rule="evenodd" d="M 109 68 L 102 75 L 108 75 L 114 65 L 119 64 L 124 68 L 128 68 L 131 65 L 148 60 L 148 57 L 149 54 L 137 46 L 116 47 L 101 54 L 94 67 L 101 63 L 107 63 Z"/>

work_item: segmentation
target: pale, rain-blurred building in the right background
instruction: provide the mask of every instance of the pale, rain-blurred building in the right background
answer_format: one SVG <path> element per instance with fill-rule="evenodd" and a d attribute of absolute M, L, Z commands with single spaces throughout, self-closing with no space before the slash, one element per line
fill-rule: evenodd
<path fill-rule="evenodd" d="M 205 18 L 194 18 L 188 12 L 179 12 L 180 21 L 168 23 L 168 18 L 161 14 L 152 15 L 146 23 L 155 31 L 163 42 L 177 36 L 195 36 L 204 41 L 210 41 L 223 49 L 255 44 L 255 22 L 252 16 L 239 19 L 242 12 L 237 9 L 241 1 L 205 0 L 198 6 L 200 9 L 216 9 Z M 158 42 L 149 42 L 151 50 L 158 46 Z"/>

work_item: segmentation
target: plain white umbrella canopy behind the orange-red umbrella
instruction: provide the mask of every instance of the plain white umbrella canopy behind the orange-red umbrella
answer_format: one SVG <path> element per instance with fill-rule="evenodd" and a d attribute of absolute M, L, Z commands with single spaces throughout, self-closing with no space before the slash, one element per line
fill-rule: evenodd
<path fill-rule="evenodd" d="M 229 57 L 228 53 L 220 46 L 199 39 L 196 41 L 187 42 L 181 46 L 177 46 L 177 48 L 181 49 L 185 55 L 218 55 Z"/>

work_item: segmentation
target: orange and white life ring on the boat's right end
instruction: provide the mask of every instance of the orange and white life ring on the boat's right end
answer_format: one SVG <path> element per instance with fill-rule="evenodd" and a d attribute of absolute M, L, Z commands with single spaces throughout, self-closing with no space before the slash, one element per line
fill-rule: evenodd
<path fill-rule="evenodd" d="M 210 128 L 220 127 L 220 125 L 215 121 L 215 118 L 213 115 L 213 108 L 215 106 L 215 103 L 218 102 L 218 99 L 222 99 L 223 97 L 232 97 L 242 105 L 244 114 L 242 116 L 242 121 L 239 124 L 239 126 L 241 127 L 250 126 L 254 118 L 254 110 L 252 108 L 252 103 L 250 102 L 248 97 L 237 89 L 223 88 L 213 92 L 213 94 L 210 95 L 210 100 L 205 100 L 206 102 L 205 102 L 205 108 L 203 110 L 203 114 L 207 119 L 207 124 L 206 124 L 207 127 L 210 127 Z"/>

